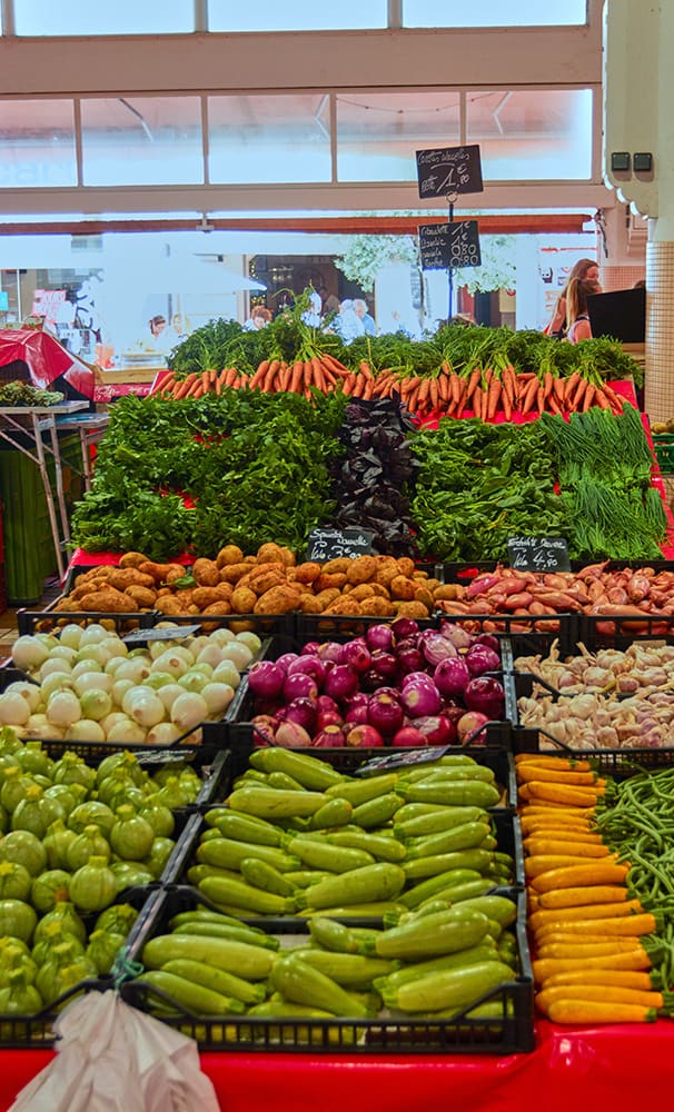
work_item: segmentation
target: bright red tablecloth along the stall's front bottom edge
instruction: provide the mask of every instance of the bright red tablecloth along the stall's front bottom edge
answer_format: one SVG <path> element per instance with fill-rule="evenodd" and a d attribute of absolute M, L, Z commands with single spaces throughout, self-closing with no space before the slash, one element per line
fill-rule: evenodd
<path fill-rule="evenodd" d="M 49 1061 L 0 1051 L 0 1112 Z M 222 1112 L 635 1112 L 674 1085 L 674 1023 L 541 1023 L 532 1054 L 402 1058 L 205 1053 Z"/>

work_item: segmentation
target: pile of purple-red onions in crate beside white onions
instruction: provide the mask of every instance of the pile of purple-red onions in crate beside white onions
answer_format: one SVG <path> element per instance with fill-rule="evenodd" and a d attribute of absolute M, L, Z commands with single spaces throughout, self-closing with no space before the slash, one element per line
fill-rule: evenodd
<path fill-rule="evenodd" d="M 423 746 L 484 741 L 503 718 L 498 641 L 443 620 L 370 626 L 345 644 L 311 642 L 248 674 L 257 744 Z"/>

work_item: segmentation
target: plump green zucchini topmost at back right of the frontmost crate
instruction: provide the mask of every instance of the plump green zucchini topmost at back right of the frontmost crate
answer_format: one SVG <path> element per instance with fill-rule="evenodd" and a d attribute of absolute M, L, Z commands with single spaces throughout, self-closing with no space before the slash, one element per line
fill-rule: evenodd
<path fill-rule="evenodd" d="M 383 931 L 377 935 L 375 950 L 379 957 L 402 957 L 404 961 L 452 954 L 480 943 L 488 923 L 487 916 L 479 911 L 449 907 Z M 438 1007 L 444 1006 L 438 1004 Z"/>

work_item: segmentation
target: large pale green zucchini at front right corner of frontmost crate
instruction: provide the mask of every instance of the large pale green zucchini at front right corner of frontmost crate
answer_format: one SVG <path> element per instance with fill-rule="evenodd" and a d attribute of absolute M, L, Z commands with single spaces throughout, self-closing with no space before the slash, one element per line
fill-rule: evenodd
<path fill-rule="evenodd" d="M 503 962 L 479 962 L 456 970 L 438 970 L 396 989 L 385 987 L 387 1007 L 403 1012 L 439 1012 L 477 1004 L 482 996 L 513 980 L 513 971 Z"/>

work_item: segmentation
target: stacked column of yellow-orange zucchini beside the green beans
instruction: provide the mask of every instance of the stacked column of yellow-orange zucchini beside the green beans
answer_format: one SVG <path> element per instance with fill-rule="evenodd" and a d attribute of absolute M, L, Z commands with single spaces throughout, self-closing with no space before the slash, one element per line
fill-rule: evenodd
<path fill-rule="evenodd" d="M 672 1006 L 652 970 L 662 924 L 596 830 L 604 781 L 584 759 L 515 759 L 538 1010 L 555 1023 L 654 1020 Z"/>

